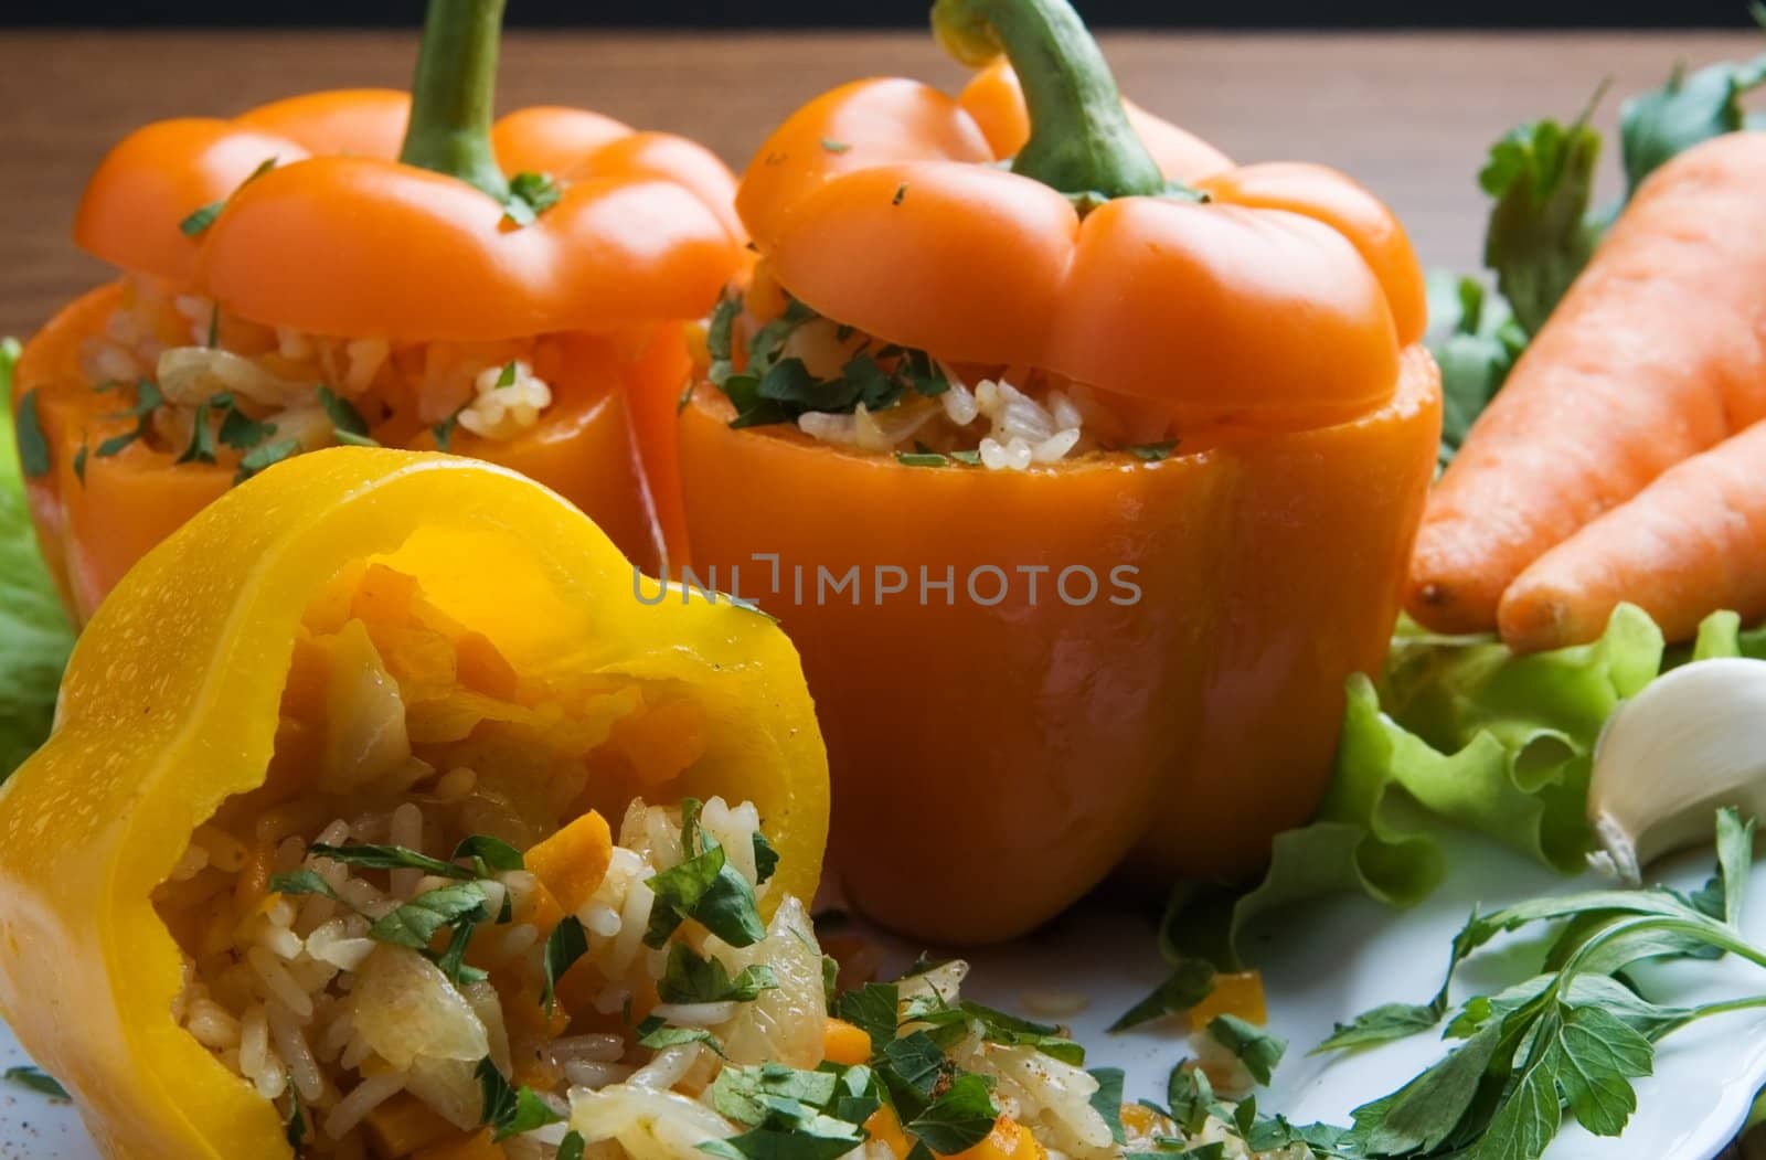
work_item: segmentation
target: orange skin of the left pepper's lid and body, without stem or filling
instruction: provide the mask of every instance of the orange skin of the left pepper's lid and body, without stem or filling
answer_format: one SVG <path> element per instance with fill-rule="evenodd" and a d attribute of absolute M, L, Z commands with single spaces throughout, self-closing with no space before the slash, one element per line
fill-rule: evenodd
<path fill-rule="evenodd" d="M 547 484 L 639 567 L 678 558 L 673 406 L 689 365 L 680 320 L 701 316 L 747 263 L 735 178 L 683 138 L 581 109 L 521 109 L 493 129 L 503 168 L 553 173 L 567 191 L 514 230 L 487 194 L 394 161 L 408 120 L 406 94 L 341 90 L 235 120 L 147 125 L 99 166 L 74 238 L 263 325 L 399 341 L 574 332 L 537 429 L 505 441 L 459 429 L 450 450 Z M 247 182 L 272 157 L 275 168 Z M 223 200 L 208 230 L 178 228 Z M 78 448 L 117 410 L 78 365 L 81 339 L 102 330 L 115 302 L 115 290 L 101 290 L 69 305 L 26 344 L 14 383 L 14 403 L 37 392 L 51 436 L 51 471 L 28 480 L 32 510 L 81 621 L 134 560 L 231 482 L 228 468 L 173 464 L 145 445 L 88 456 L 85 484 L 74 477 Z M 434 447 L 417 424 L 374 436 Z"/>

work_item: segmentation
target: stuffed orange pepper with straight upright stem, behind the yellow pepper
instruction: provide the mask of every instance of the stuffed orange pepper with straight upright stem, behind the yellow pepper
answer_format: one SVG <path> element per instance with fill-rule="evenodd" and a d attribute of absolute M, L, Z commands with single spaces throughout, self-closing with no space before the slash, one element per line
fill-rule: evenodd
<path fill-rule="evenodd" d="M 493 127 L 500 16 L 431 5 L 415 102 L 159 122 L 99 166 L 74 237 L 124 277 L 32 339 L 12 399 L 78 620 L 237 478 L 334 443 L 516 468 L 650 570 L 678 540 L 678 320 L 743 263 L 735 182 L 586 111 Z"/>

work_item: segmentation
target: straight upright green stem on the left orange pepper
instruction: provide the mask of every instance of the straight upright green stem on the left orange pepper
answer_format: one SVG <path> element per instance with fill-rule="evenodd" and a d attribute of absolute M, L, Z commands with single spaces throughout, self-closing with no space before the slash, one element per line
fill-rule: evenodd
<path fill-rule="evenodd" d="M 429 0 L 399 161 L 509 196 L 491 150 L 503 0 Z"/>

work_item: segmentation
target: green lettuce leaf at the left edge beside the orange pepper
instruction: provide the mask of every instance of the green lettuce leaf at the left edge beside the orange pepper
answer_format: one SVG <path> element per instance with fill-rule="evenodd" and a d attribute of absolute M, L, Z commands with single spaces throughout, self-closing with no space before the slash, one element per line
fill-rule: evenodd
<path fill-rule="evenodd" d="M 0 399 L 12 397 L 18 343 L 0 343 Z M 37 553 L 11 403 L 0 408 L 0 780 L 49 736 L 74 632 Z"/>

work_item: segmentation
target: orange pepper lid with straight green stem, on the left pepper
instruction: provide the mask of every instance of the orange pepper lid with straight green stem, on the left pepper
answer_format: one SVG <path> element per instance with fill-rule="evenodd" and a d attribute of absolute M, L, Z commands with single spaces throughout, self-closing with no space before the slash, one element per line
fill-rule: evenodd
<path fill-rule="evenodd" d="M 74 240 L 247 320 L 341 337 L 494 341 L 703 314 L 745 263 L 735 178 L 685 138 L 581 109 L 493 127 L 502 11 L 429 5 L 415 102 L 321 92 L 138 129 L 88 184 Z M 546 173 L 562 196 L 517 224 L 505 173 Z M 212 205 L 207 228 L 191 219 Z"/>

